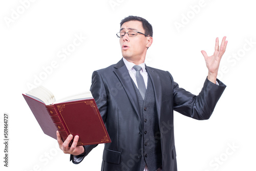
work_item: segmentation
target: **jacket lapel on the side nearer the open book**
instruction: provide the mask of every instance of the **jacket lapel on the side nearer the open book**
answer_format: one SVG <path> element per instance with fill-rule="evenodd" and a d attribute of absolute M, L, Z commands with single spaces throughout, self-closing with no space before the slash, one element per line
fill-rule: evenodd
<path fill-rule="evenodd" d="M 121 82 L 124 91 L 126 92 L 127 96 L 129 97 L 131 103 L 133 104 L 133 108 L 142 123 L 142 118 L 140 116 L 140 110 L 139 110 L 139 102 L 138 102 L 137 94 L 134 90 L 133 80 L 132 80 L 126 66 L 124 65 L 123 59 L 121 59 L 114 66 L 114 68 L 116 68 L 116 70 L 114 70 L 114 73 L 116 74 L 119 81 Z"/>

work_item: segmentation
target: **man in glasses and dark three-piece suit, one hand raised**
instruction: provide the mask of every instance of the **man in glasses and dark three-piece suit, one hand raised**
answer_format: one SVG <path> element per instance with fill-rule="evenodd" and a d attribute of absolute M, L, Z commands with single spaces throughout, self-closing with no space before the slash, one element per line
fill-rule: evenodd
<path fill-rule="evenodd" d="M 153 42 L 147 20 L 124 18 L 117 36 L 123 58 L 92 76 L 91 92 L 112 140 L 105 144 L 101 170 L 175 171 L 173 110 L 199 120 L 210 117 L 226 87 L 217 80 L 226 37 L 220 49 L 216 39 L 214 55 L 202 51 L 208 76 L 196 96 L 179 88 L 169 72 L 145 66 L 146 52 Z M 62 142 L 57 132 L 57 138 L 62 151 L 71 154 L 76 164 L 97 146 L 76 146 L 79 137 L 75 136 L 69 147 L 72 135 Z"/>

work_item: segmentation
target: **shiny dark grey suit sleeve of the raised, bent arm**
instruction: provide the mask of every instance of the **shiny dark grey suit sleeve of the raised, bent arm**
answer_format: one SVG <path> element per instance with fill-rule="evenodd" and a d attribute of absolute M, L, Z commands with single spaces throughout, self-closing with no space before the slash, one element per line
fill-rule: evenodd
<path fill-rule="evenodd" d="M 172 78 L 171 75 L 170 77 Z M 217 81 L 219 86 L 206 78 L 197 96 L 179 88 L 178 83 L 173 81 L 174 110 L 194 119 L 209 119 L 226 88 L 220 80 Z"/>

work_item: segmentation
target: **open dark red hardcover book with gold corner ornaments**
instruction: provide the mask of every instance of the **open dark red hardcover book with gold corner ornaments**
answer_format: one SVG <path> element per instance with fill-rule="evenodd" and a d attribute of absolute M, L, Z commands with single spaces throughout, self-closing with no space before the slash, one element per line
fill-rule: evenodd
<path fill-rule="evenodd" d="M 58 130 L 62 141 L 70 134 L 78 135 L 78 146 L 111 142 L 90 91 L 56 101 L 49 90 L 40 86 L 23 96 L 46 135 L 57 139 Z"/>

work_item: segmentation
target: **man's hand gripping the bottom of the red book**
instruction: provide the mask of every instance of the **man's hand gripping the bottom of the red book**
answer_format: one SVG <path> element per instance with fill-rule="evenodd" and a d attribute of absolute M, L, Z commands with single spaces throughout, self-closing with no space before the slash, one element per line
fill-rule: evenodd
<path fill-rule="evenodd" d="M 56 134 L 59 148 L 63 151 L 63 153 L 77 156 L 84 152 L 83 146 L 76 146 L 77 141 L 79 139 L 78 135 L 75 136 L 72 145 L 69 146 L 69 143 L 73 138 L 73 135 L 69 135 L 68 138 L 63 142 L 58 131 L 56 132 Z"/>

